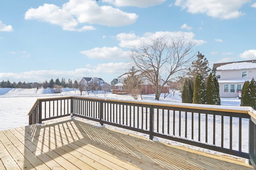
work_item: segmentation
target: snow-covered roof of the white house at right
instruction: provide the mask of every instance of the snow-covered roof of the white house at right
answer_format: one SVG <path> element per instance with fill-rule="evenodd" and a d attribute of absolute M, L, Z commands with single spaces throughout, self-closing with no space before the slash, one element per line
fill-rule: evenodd
<path fill-rule="evenodd" d="M 256 68 L 256 60 L 215 63 L 212 70 L 240 70 L 249 68 Z"/>

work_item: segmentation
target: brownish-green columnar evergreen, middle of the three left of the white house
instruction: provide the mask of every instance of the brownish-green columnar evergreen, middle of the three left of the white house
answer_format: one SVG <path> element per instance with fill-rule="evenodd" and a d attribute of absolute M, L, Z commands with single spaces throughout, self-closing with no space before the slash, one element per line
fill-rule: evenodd
<path fill-rule="evenodd" d="M 204 86 L 204 78 L 198 74 L 194 84 L 193 104 L 205 104 L 206 90 Z"/>

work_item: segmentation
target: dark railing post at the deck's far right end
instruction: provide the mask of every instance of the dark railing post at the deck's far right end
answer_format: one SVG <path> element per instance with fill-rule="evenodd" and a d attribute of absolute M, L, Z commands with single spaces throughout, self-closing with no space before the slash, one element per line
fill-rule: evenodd
<path fill-rule="evenodd" d="M 254 119 L 253 117 L 249 120 L 249 155 L 250 155 L 250 164 L 256 169 L 256 160 L 255 160 L 255 154 L 256 154 L 256 148 L 255 148 L 255 142 L 256 142 L 256 125 L 252 121 Z"/>

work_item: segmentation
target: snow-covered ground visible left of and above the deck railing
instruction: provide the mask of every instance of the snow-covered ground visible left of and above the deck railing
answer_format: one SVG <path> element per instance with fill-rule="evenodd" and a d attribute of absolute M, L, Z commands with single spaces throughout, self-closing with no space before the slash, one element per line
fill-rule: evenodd
<path fill-rule="evenodd" d="M 73 90 L 70 88 L 62 89 L 61 94 L 52 94 L 49 89 L 16 89 L 16 88 L 0 88 L 0 131 L 6 129 L 12 129 L 16 127 L 26 126 L 28 125 L 28 112 L 30 111 L 33 104 L 36 102 L 38 98 L 50 98 L 57 96 L 72 96 L 79 95 L 80 92 L 78 90 Z M 83 92 L 83 96 L 88 96 L 87 93 Z M 89 96 L 106 98 L 102 92 L 98 92 L 98 94 L 90 93 Z M 162 94 L 160 98 L 160 102 L 174 102 L 181 104 L 180 93 L 169 94 L 166 98 L 163 97 Z M 134 100 L 129 95 L 117 95 L 117 94 L 107 94 L 107 98 L 118 99 L 118 100 Z M 142 95 L 144 102 L 153 102 L 154 94 L 150 95 Z M 139 97 L 138 100 L 141 100 Z M 238 98 L 221 98 L 221 105 L 224 107 L 227 106 L 240 106 L 240 99 Z M 78 117 L 76 117 L 79 119 Z M 88 121 L 88 123 L 98 125 L 97 122 Z M 128 131 L 125 129 L 120 129 L 118 127 L 111 127 L 113 129 Z M 136 132 L 135 132 L 136 133 Z M 146 137 L 145 134 L 138 134 Z M 248 136 L 247 136 L 248 137 Z M 154 140 L 162 140 L 155 138 Z M 170 143 L 172 145 L 181 145 L 173 141 L 163 141 L 166 143 Z M 205 149 L 200 149 L 196 147 L 190 146 L 190 148 L 194 148 L 197 150 L 203 150 L 204 152 L 213 152 Z M 248 147 L 247 147 L 248 148 Z M 214 154 L 218 154 L 217 152 L 213 152 Z"/>

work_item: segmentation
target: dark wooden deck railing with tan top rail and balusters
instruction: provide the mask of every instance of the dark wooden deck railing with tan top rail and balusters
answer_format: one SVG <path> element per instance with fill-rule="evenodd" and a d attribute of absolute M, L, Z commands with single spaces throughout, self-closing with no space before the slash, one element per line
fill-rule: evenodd
<path fill-rule="evenodd" d="M 241 108 L 241 109 L 240 109 Z M 250 108 L 172 105 L 82 97 L 38 99 L 29 124 L 68 116 L 82 117 L 250 160 L 256 155 L 256 115 Z"/>

